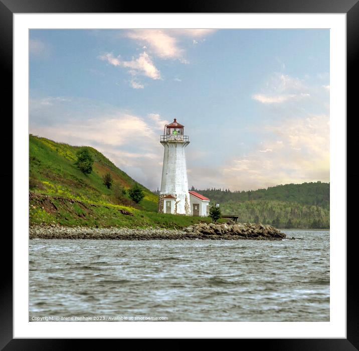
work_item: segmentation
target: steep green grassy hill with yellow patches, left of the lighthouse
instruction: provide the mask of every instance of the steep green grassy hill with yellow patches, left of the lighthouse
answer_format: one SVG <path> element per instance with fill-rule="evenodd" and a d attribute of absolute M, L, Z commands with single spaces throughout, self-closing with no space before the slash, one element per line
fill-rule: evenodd
<path fill-rule="evenodd" d="M 75 165 L 79 147 L 29 136 L 30 224 L 179 228 L 200 220 L 157 213 L 158 196 L 144 186 L 140 204 L 127 194 L 118 200 L 113 189 L 103 184 L 102 176 L 110 173 L 114 183 L 125 189 L 135 181 L 100 152 L 87 149 L 94 159 L 91 174 L 82 173 Z"/>

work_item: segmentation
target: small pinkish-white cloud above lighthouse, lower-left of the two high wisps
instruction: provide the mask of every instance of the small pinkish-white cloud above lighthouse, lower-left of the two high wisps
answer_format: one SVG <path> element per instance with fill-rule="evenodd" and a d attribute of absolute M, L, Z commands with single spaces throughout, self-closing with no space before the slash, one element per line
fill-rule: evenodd
<path fill-rule="evenodd" d="M 120 55 L 114 57 L 112 53 L 106 53 L 99 57 L 113 66 L 121 66 L 128 69 L 131 75 L 144 75 L 151 79 L 160 79 L 159 70 L 154 66 L 149 55 L 144 51 L 139 54 L 138 58 L 132 58 L 130 61 L 123 61 Z"/>

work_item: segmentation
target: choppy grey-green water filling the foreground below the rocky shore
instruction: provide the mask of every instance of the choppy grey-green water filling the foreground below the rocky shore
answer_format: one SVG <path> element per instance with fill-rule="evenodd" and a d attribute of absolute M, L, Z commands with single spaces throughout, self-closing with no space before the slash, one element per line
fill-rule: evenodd
<path fill-rule="evenodd" d="M 329 231 L 284 232 L 301 240 L 31 240 L 29 320 L 329 321 Z"/>

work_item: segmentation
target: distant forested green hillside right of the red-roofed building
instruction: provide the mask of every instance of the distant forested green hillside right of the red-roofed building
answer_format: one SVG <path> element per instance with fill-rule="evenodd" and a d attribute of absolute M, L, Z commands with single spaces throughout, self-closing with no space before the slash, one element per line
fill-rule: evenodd
<path fill-rule="evenodd" d="M 262 222 L 281 228 L 328 228 L 329 183 L 285 184 L 254 191 L 192 190 L 219 203 L 224 214 L 242 222 Z"/>

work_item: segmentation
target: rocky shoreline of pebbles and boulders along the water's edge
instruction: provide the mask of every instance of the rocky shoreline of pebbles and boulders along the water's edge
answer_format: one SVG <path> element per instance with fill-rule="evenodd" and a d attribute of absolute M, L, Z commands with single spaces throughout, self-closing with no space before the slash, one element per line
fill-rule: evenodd
<path fill-rule="evenodd" d="M 32 225 L 30 239 L 107 240 L 282 240 L 286 235 L 271 225 L 254 223 L 199 223 L 183 230 L 163 228 L 90 228 Z"/>

